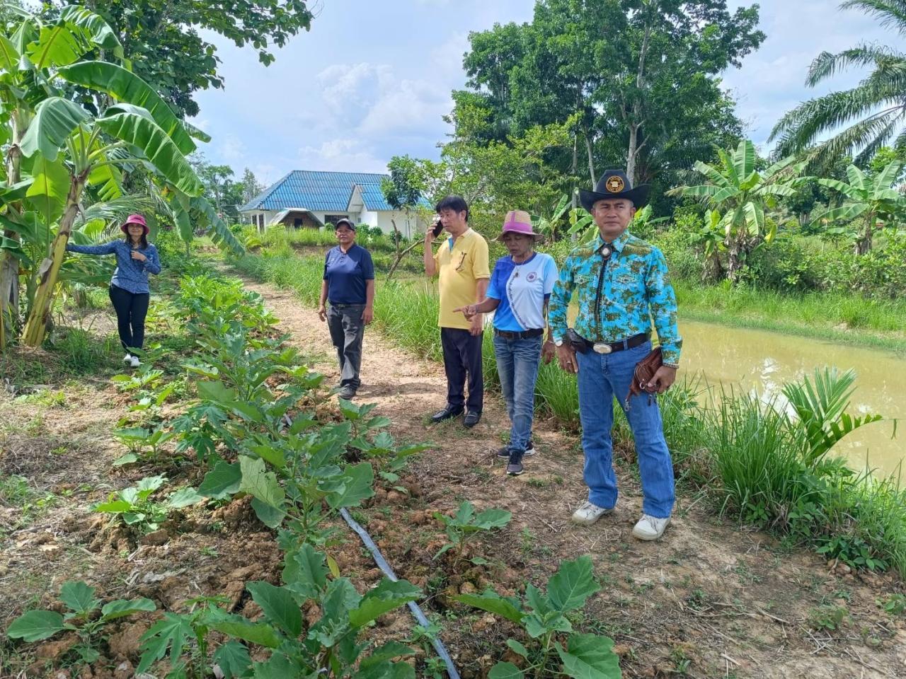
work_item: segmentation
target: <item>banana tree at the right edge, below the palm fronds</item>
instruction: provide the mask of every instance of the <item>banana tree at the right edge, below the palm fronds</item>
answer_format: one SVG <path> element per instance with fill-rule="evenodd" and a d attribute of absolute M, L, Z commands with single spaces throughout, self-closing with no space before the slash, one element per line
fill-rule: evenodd
<path fill-rule="evenodd" d="M 894 160 L 884 167 L 876 177 L 866 175 L 861 169 L 851 165 L 846 168 L 849 184 L 837 179 L 818 179 L 818 184 L 834 189 L 843 195 L 843 205 L 825 210 L 815 215 L 812 225 L 824 225 L 834 222 L 853 223 L 862 221 L 862 230 L 856 233 L 855 253 L 865 254 L 871 251 L 874 234 L 883 225 L 895 224 L 902 219 L 904 211 L 903 196 L 892 188 L 900 176 L 901 163 Z M 844 226 L 832 226 L 825 229 L 825 234 L 843 233 Z"/>

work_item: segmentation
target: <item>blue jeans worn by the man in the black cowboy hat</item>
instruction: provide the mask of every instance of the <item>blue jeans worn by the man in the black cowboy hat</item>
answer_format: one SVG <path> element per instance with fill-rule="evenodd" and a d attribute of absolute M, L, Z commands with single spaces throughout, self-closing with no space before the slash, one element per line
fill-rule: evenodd
<path fill-rule="evenodd" d="M 579 416 L 585 451 L 585 484 L 588 499 L 599 507 L 617 502 L 617 479 L 613 473 L 613 397 L 617 398 L 635 438 L 641 475 L 642 512 L 660 519 L 673 510 L 673 463 L 664 440 L 657 397 L 641 393 L 626 409 L 632 372 L 651 351 L 651 342 L 635 349 L 597 354 L 576 354 L 579 363 Z"/>

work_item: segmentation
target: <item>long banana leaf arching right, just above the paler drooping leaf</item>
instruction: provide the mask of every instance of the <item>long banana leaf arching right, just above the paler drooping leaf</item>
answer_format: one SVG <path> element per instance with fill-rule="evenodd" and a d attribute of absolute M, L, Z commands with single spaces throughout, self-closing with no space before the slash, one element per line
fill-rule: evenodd
<path fill-rule="evenodd" d="M 183 154 L 196 149 L 195 142 L 189 137 L 182 121 L 170 109 L 169 104 L 135 73 L 115 63 L 93 61 L 73 63 L 72 66 L 66 66 L 57 73 L 67 81 L 91 90 L 107 92 L 118 101 L 126 101 L 148 110 L 151 119 L 168 134 L 170 139 L 173 139 L 173 143 Z M 185 211 L 183 213 L 186 214 Z M 186 217 L 188 219 L 188 214 Z"/>

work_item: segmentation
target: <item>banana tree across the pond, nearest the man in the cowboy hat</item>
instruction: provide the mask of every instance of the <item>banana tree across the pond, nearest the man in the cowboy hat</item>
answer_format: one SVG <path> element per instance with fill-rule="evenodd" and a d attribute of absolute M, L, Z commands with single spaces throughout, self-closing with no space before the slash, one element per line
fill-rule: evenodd
<path fill-rule="evenodd" d="M 719 164 L 695 163 L 706 184 L 678 186 L 668 194 L 701 198 L 718 212 L 717 228 L 728 253 L 727 277 L 738 282 L 748 254 L 759 244 L 770 244 L 776 235 L 776 222 L 766 219 L 766 209 L 776 207 L 778 196 L 795 196 L 809 177 L 800 177 L 805 162 L 793 157 L 758 171 L 755 145 L 747 139 L 729 153 L 718 149 L 718 158 Z"/>

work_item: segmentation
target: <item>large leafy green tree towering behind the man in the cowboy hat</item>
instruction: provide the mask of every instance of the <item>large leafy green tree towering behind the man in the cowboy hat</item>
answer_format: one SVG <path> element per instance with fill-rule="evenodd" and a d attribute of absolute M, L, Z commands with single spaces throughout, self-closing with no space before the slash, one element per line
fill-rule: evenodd
<path fill-rule="evenodd" d="M 571 120 L 572 143 L 545 158 L 564 178 L 620 164 L 636 182 L 672 175 L 737 142 L 718 73 L 764 40 L 757 21 L 757 5 L 725 0 L 538 0 L 531 23 L 470 34 L 453 119 L 486 118 L 457 136 L 506 142 Z"/>

